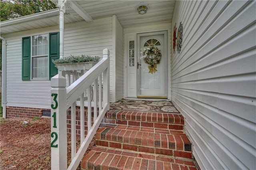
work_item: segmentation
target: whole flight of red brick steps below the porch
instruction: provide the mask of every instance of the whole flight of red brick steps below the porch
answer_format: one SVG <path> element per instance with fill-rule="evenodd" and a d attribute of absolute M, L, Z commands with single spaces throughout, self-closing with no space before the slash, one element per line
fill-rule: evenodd
<path fill-rule="evenodd" d="M 181 114 L 111 110 L 84 156 L 88 170 L 196 170 Z"/>

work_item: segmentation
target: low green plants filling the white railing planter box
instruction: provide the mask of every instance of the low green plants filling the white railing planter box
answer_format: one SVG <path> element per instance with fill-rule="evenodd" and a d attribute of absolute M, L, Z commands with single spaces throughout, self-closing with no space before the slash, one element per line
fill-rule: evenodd
<path fill-rule="evenodd" d="M 81 56 L 70 55 L 69 57 L 63 57 L 60 59 L 52 60 L 52 62 L 55 64 L 55 67 L 56 67 L 56 64 L 99 62 L 99 61 L 100 61 L 99 56 L 91 57 L 88 55 L 87 56 L 86 55 L 81 55 Z"/>

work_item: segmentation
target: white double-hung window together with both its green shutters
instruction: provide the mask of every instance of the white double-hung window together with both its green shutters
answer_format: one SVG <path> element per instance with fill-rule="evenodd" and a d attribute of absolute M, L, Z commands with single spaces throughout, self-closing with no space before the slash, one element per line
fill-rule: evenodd
<path fill-rule="evenodd" d="M 59 58 L 59 33 L 22 38 L 22 80 L 51 79 L 58 74 L 52 59 Z"/>

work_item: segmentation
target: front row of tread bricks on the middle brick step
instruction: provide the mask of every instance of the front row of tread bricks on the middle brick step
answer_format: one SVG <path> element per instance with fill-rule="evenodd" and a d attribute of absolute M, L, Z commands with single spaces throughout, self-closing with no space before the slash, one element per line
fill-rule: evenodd
<path fill-rule="evenodd" d="M 132 128 L 130 128 L 132 129 Z M 121 142 L 157 148 L 191 151 L 191 143 L 184 133 L 163 134 L 144 131 L 102 128 L 96 132 L 96 140 Z M 157 132 L 157 131 L 156 131 Z"/>

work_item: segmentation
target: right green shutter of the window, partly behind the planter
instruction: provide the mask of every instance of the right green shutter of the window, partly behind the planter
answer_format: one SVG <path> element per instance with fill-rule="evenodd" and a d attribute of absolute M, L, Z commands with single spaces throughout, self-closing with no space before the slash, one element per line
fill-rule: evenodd
<path fill-rule="evenodd" d="M 60 58 L 60 36 L 59 32 L 49 33 L 49 78 L 58 74 L 58 69 L 52 63 L 52 59 Z"/>

